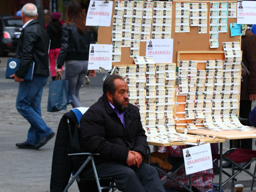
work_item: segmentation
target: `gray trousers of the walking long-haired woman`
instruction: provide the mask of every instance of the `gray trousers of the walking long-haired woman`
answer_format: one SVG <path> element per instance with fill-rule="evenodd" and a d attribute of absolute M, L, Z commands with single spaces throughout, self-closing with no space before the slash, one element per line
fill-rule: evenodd
<path fill-rule="evenodd" d="M 66 61 L 66 79 L 68 79 L 68 86 L 74 99 L 74 102 L 71 103 L 73 108 L 81 107 L 79 90 L 84 83 L 87 68 L 88 61 Z"/>

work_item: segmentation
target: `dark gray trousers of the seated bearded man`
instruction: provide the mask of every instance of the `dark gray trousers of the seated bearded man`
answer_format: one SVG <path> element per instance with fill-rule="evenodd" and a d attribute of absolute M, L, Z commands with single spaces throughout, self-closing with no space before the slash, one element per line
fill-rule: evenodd
<path fill-rule="evenodd" d="M 117 162 L 106 162 L 96 166 L 99 177 L 113 177 L 116 187 L 123 192 L 165 192 L 156 169 L 142 162 L 139 168 L 127 167 Z M 83 178 L 94 177 L 93 169 L 84 171 Z"/>

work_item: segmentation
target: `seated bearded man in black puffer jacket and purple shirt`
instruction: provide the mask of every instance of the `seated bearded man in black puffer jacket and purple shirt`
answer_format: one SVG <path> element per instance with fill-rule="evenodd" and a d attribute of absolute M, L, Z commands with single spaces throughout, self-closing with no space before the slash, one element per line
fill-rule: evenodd
<path fill-rule="evenodd" d="M 120 191 L 164 192 L 154 167 L 143 162 L 147 136 L 138 107 L 129 103 L 129 87 L 119 75 L 108 76 L 103 96 L 80 120 L 81 146 L 95 156 L 99 177 L 113 177 Z M 82 177 L 94 176 L 86 166 Z"/>

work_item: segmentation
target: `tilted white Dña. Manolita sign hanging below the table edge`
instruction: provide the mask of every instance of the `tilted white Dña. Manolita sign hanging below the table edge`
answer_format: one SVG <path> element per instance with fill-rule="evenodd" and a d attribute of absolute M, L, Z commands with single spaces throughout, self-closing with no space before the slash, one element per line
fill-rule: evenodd
<path fill-rule="evenodd" d="M 186 175 L 212 168 L 210 143 L 182 149 Z"/>

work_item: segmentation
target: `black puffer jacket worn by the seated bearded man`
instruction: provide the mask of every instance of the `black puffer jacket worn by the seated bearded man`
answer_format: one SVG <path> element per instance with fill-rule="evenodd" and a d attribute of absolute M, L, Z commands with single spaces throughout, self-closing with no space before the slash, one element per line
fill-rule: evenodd
<path fill-rule="evenodd" d="M 95 156 L 95 164 L 116 161 L 126 165 L 129 150 L 139 152 L 145 159 L 148 143 L 138 107 L 129 104 L 124 121 L 125 129 L 105 96 L 82 116 L 81 146 L 87 152 L 101 154 Z"/>

